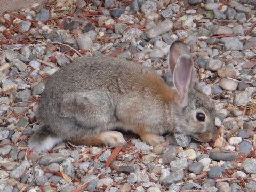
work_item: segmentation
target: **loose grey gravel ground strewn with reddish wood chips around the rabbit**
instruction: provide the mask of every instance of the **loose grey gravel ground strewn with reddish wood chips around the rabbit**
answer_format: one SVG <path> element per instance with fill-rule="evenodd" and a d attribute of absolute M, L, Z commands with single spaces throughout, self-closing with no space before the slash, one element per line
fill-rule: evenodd
<path fill-rule="evenodd" d="M 88 3 L 90 2 L 90 3 Z M 62 0 L 0 15 L 0 191 L 255 191 L 255 1 Z M 217 109 L 218 138 L 166 136 L 125 149 L 61 143 L 27 149 L 43 80 L 82 55 L 153 68 L 172 84 L 166 56 L 190 47 Z"/>

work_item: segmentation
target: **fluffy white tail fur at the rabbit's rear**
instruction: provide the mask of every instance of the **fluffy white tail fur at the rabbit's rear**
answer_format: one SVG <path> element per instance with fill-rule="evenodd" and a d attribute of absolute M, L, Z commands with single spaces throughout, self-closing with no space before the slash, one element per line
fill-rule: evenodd
<path fill-rule="evenodd" d="M 44 152 L 51 150 L 55 145 L 63 141 L 61 138 L 48 136 L 43 141 L 29 142 L 29 148 L 34 149 L 37 152 Z"/>

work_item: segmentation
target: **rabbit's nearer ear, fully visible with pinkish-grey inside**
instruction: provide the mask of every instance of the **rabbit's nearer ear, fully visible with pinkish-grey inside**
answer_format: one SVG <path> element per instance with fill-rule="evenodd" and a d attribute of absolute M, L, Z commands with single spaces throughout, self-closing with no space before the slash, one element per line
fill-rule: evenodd
<path fill-rule="evenodd" d="M 189 55 L 183 54 L 178 58 L 173 71 L 173 82 L 179 94 L 179 102 L 182 103 L 188 90 L 195 86 L 196 82 L 194 63 Z"/>

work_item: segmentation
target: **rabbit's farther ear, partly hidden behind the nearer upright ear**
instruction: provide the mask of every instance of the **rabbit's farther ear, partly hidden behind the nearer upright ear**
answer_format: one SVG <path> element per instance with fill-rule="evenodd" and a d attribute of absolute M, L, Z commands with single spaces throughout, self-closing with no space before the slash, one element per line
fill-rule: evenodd
<path fill-rule="evenodd" d="M 188 46 L 181 41 L 174 41 L 171 44 L 169 55 L 168 55 L 168 64 L 169 64 L 169 69 L 172 75 L 174 73 L 177 60 L 182 54 L 190 55 Z"/>

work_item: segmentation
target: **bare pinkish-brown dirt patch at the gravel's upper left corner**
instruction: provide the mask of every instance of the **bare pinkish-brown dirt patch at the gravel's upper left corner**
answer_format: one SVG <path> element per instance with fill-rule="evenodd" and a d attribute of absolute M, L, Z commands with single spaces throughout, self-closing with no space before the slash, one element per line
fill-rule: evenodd
<path fill-rule="evenodd" d="M 0 14 L 11 10 L 28 9 L 34 3 L 44 4 L 44 0 L 0 0 Z"/>

